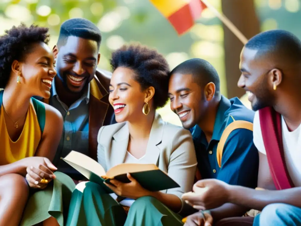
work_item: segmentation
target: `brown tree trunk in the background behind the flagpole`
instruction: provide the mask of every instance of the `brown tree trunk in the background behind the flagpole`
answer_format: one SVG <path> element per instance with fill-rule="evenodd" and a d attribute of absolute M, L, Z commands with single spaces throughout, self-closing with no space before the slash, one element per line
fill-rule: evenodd
<path fill-rule="evenodd" d="M 260 32 L 259 20 L 255 12 L 253 0 L 221 0 L 222 11 L 226 17 L 250 39 Z M 241 97 L 244 90 L 237 87 L 240 77 L 239 61 L 242 42 L 223 24 L 224 48 L 225 48 L 225 71 L 227 81 L 228 98 Z"/>

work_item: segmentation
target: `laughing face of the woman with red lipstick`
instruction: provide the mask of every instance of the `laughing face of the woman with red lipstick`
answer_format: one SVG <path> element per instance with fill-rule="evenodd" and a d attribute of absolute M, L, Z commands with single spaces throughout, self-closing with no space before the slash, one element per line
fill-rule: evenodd
<path fill-rule="evenodd" d="M 141 90 L 135 76 L 135 71 L 126 67 L 117 67 L 112 74 L 109 101 L 117 122 L 137 121 L 144 116 L 142 108 L 146 93 Z"/>

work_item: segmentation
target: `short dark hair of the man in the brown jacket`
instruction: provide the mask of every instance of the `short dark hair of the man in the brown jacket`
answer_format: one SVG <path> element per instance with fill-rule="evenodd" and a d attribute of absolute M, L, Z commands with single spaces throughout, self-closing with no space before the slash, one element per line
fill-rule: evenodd
<path fill-rule="evenodd" d="M 76 36 L 79 38 L 96 41 L 98 49 L 101 43 L 101 33 L 98 27 L 96 27 L 95 24 L 93 24 L 90 20 L 83 18 L 66 20 L 61 25 L 57 45 L 64 46 L 65 41 L 69 36 Z"/>

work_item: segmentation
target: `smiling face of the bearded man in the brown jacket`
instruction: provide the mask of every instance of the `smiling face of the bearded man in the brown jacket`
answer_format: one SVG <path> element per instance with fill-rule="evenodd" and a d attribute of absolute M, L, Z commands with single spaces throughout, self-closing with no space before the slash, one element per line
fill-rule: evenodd
<path fill-rule="evenodd" d="M 68 91 L 81 92 L 94 77 L 100 59 L 97 42 L 69 36 L 63 46 L 54 48 L 54 54 L 57 51 L 58 77 Z"/>

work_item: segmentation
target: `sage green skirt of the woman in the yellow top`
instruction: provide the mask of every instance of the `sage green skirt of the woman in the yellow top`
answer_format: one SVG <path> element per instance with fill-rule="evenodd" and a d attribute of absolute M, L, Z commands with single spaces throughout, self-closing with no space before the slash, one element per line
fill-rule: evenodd
<path fill-rule="evenodd" d="M 61 172 L 55 172 L 56 179 L 45 189 L 36 190 L 28 199 L 20 226 L 32 226 L 54 217 L 60 226 L 66 224 L 73 180 Z"/>

